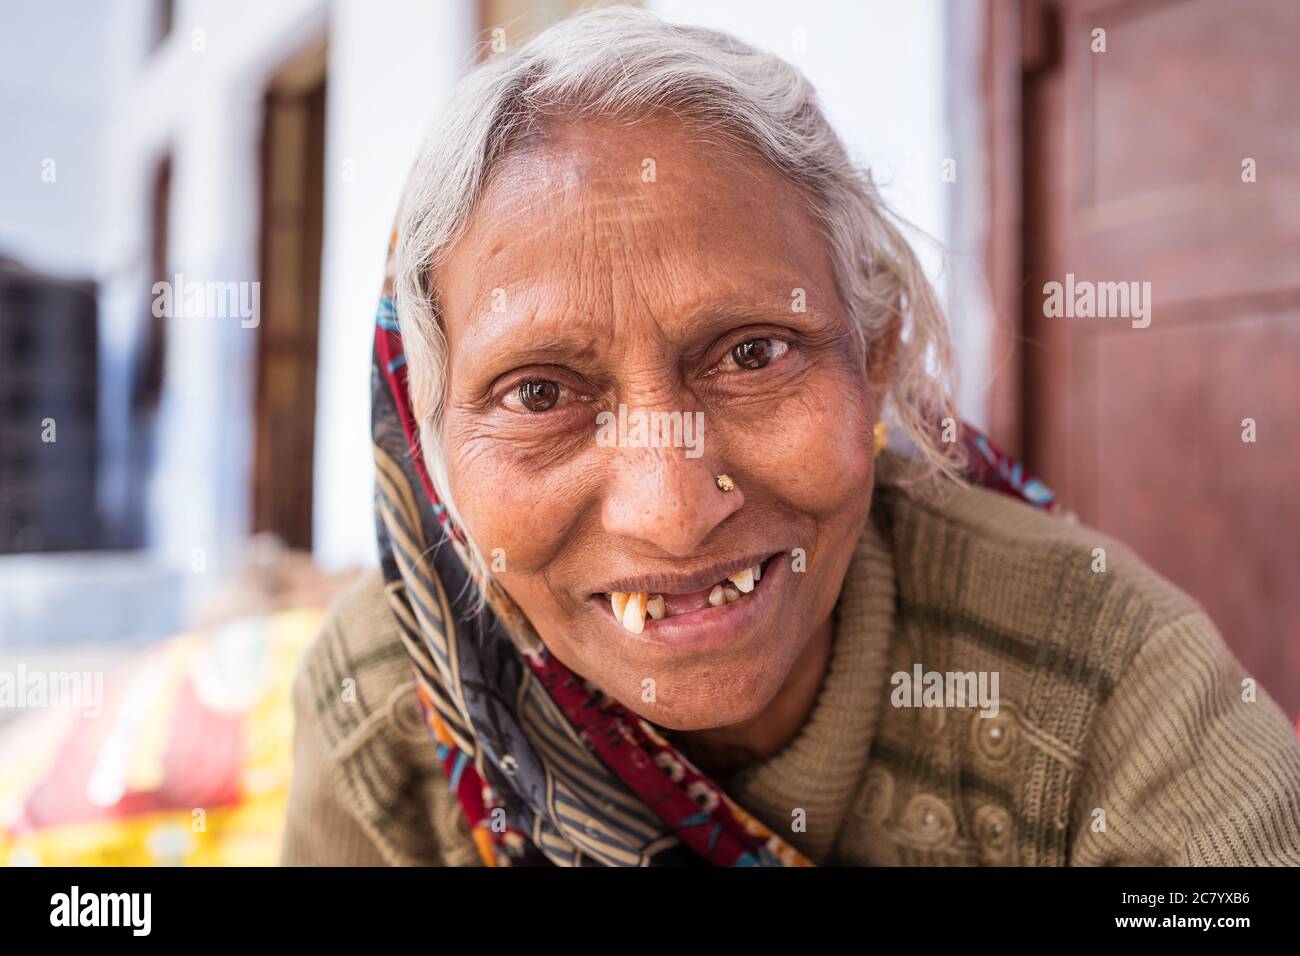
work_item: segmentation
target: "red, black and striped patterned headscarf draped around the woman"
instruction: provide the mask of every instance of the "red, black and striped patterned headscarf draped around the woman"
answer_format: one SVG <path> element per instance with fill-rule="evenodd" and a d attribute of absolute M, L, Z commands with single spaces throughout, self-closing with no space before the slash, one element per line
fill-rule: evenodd
<path fill-rule="evenodd" d="M 420 455 L 389 247 L 372 367 L 376 524 L 385 591 L 425 722 L 489 866 L 811 866 L 645 719 L 573 674 L 493 581 Z M 983 484 L 1052 494 L 965 431 Z"/>

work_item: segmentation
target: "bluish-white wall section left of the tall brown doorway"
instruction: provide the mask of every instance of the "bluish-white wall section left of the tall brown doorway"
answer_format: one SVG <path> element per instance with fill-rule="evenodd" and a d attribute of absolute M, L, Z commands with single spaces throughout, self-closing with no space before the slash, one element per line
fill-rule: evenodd
<path fill-rule="evenodd" d="M 120 77 L 108 114 L 101 326 L 112 363 L 147 315 L 150 189 L 170 150 L 168 263 L 187 278 L 256 281 L 261 96 L 276 68 L 318 35 L 321 0 L 191 0 L 147 51 L 150 5 L 114 5 Z M 256 329 L 238 319 L 169 319 L 160 457 L 148 542 L 164 562 L 216 580 L 248 532 Z M 110 475 L 105 476 L 110 479 Z"/>

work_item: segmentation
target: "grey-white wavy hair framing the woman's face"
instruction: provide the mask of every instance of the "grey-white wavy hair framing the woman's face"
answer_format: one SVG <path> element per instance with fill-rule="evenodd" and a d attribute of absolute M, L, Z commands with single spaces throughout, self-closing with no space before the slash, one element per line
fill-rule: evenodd
<path fill-rule="evenodd" d="M 456 511 L 442 442 L 447 343 L 433 272 L 463 234 L 503 157 L 556 117 L 670 112 L 755 151 L 809 200 L 827 242 L 836 291 L 866 368 L 897 336 L 889 418 L 923 459 L 959 467 L 936 423 L 953 418 L 952 343 L 915 254 L 890 221 L 871 174 L 827 122 L 807 78 L 727 34 L 615 7 L 555 23 L 512 55 L 480 64 L 456 87 L 420 151 L 398 224 L 396 310 L 412 407 L 438 497 L 486 563 Z M 890 375 L 892 372 L 892 375 Z"/>

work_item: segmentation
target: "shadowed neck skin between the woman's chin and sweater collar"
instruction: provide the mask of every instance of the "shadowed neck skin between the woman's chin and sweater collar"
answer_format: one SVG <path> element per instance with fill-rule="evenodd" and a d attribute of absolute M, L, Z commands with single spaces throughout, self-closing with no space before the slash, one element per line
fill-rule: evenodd
<path fill-rule="evenodd" d="M 672 735 L 673 743 L 710 775 L 736 773 L 780 750 L 812 710 L 831 661 L 831 636 L 828 617 L 803 645 L 781 689 L 754 717 L 727 727 L 680 731 Z"/>

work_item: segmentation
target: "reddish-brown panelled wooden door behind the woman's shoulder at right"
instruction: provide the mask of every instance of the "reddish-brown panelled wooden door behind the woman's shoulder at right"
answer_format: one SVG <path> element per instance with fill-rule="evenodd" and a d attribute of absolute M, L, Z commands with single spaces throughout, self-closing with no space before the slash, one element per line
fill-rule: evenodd
<path fill-rule="evenodd" d="M 1024 455 L 1193 594 L 1295 718 L 1300 3 L 1020 13 Z M 1067 274 L 1149 282 L 1150 324 L 1049 317 Z"/>

